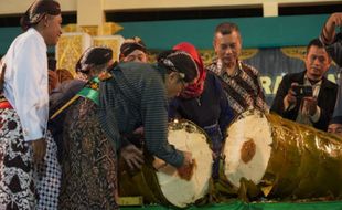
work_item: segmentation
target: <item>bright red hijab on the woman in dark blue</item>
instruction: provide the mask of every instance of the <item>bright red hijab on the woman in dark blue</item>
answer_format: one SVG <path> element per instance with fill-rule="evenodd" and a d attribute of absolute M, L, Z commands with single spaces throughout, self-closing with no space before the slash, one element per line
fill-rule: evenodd
<path fill-rule="evenodd" d="M 173 46 L 173 50 L 181 50 L 189 53 L 192 56 L 192 59 L 196 62 L 199 70 L 197 81 L 195 81 L 193 84 L 188 85 L 184 88 L 184 91 L 182 91 L 180 96 L 183 98 L 199 97 L 203 92 L 204 81 L 206 76 L 206 72 L 204 70 L 204 65 L 200 53 L 197 52 L 196 48 L 189 42 L 179 43 L 175 46 Z"/>

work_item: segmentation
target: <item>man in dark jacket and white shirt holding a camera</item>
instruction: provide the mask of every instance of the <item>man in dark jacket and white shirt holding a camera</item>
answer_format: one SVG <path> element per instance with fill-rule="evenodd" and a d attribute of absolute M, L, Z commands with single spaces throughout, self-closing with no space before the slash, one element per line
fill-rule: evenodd
<path fill-rule="evenodd" d="M 301 124 L 327 130 L 336 101 L 338 85 L 324 76 L 331 59 L 320 40 L 307 48 L 306 70 L 284 76 L 271 106 L 271 112 Z M 296 86 L 312 88 L 311 96 L 299 97 Z"/>

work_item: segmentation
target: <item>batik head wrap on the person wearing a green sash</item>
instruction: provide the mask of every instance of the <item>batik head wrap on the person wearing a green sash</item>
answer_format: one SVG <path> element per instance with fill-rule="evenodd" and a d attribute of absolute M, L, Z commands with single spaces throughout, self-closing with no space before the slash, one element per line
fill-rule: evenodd
<path fill-rule="evenodd" d="M 87 73 L 93 66 L 101 65 L 113 59 L 113 51 L 105 46 L 90 46 L 76 63 L 76 72 Z"/>

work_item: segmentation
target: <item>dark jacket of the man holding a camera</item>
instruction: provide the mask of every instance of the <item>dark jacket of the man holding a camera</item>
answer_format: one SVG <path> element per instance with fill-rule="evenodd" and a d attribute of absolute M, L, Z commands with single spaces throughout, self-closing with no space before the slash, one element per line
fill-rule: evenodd
<path fill-rule="evenodd" d="M 287 95 L 292 83 L 303 84 L 306 71 L 300 73 L 287 74 L 282 77 L 282 81 L 277 91 L 277 95 L 274 99 L 274 104 L 270 112 L 275 112 L 284 118 L 296 120 L 300 101 L 297 101 L 295 108 L 290 111 L 284 109 L 284 97 Z M 336 102 L 338 85 L 322 78 L 320 93 L 318 95 L 318 106 L 321 108 L 321 116 L 317 123 L 313 123 L 313 127 L 327 132 L 329 122 L 332 117 L 332 113 Z"/>

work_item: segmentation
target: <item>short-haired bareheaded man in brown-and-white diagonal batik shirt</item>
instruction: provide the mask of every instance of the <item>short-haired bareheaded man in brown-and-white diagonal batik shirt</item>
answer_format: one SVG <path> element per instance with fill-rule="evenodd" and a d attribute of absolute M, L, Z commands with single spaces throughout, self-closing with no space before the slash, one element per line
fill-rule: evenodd
<path fill-rule="evenodd" d="M 234 115 L 250 107 L 268 111 L 258 71 L 238 59 L 242 52 L 238 27 L 229 22 L 218 24 L 213 44 L 217 57 L 207 69 L 222 78 Z"/>

